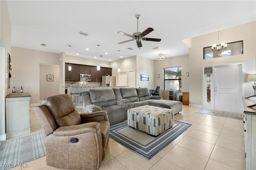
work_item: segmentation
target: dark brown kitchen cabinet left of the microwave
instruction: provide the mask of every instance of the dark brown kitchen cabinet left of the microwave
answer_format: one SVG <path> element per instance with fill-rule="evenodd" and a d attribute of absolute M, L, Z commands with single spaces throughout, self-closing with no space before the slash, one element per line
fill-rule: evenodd
<path fill-rule="evenodd" d="M 71 66 L 71 71 L 68 66 Z M 79 64 L 65 63 L 65 81 L 79 82 Z"/>

